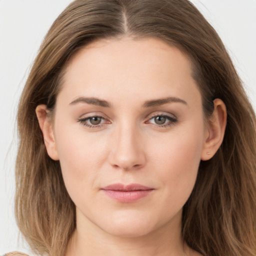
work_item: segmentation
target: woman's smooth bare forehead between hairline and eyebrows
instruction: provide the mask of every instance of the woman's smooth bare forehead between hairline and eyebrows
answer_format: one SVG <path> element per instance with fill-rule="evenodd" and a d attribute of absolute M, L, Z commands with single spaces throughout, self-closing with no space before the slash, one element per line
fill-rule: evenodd
<path fill-rule="evenodd" d="M 70 100 L 83 95 L 108 100 L 189 97 L 199 93 L 191 66 L 179 49 L 156 38 L 98 40 L 71 58 L 61 93 Z"/>

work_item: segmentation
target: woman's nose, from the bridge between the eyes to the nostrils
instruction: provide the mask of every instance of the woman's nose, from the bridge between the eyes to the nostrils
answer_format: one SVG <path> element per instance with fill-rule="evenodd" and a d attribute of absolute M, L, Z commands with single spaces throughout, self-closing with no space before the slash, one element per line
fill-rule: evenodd
<path fill-rule="evenodd" d="M 139 131 L 130 126 L 119 127 L 111 140 L 109 163 L 123 170 L 138 169 L 144 166 L 146 158 Z"/>

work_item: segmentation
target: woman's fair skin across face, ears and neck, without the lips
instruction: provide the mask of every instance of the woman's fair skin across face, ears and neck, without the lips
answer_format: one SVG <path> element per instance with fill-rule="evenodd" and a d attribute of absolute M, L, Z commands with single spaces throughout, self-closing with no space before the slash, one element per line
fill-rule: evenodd
<path fill-rule="evenodd" d="M 100 40 L 67 65 L 53 117 L 37 106 L 47 152 L 60 161 L 76 206 L 77 228 L 66 255 L 198 255 L 182 241 L 182 207 L 200 160 L 222 142 L 226 110 L 215 99 L 205 121 L 191 73 L 189 59 L 161 40 Z M 166 97 L 171 100 L 145 106 Z M 102 117 L 99 125 L 91 124 L 92 116 Z M 158 123 L 163 118 L 165 126 Z M 124 203 L 102 191 L 113 183 L 153 190 Z"/>

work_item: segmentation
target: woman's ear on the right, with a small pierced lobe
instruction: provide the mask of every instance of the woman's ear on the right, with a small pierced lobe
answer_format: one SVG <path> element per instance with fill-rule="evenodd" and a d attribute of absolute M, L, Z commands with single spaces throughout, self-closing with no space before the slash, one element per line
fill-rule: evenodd
<path fill-rule="evenodd" d="M 224 137 L 226 106 L 219 98 L 214 99 L 213 103 L 214 110 L 205 127 L 201 160 L 210 159 L 220 147 Z"/>

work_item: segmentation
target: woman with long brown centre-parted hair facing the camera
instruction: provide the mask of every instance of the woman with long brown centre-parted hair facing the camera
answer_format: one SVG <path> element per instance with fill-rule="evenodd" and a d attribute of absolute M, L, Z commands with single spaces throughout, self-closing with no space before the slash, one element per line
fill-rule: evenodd
<path fill-rule="evenodd" d="M 255 116 L 187 0 L 72 2 L 18 129 L 16 217 L 38 254 L 256 254 Z"/>

